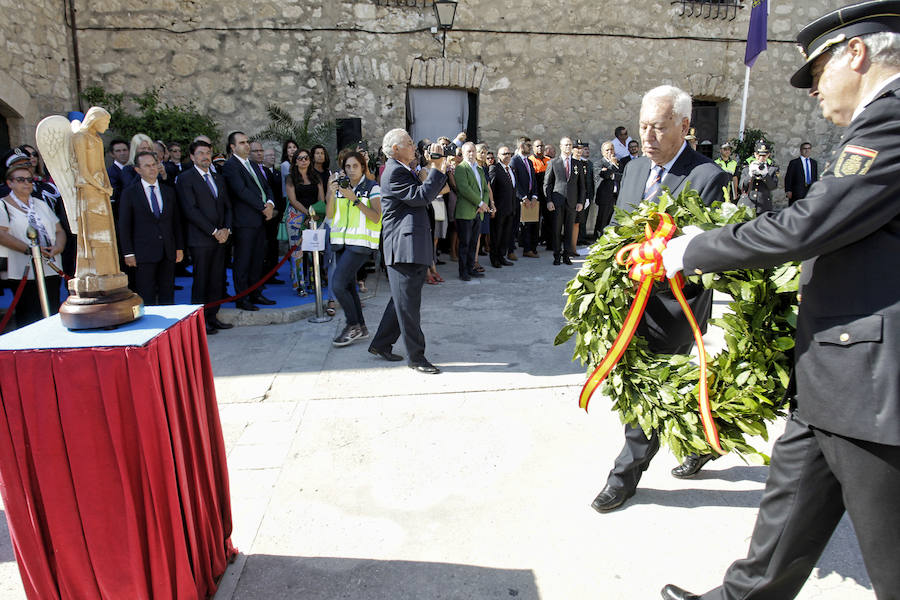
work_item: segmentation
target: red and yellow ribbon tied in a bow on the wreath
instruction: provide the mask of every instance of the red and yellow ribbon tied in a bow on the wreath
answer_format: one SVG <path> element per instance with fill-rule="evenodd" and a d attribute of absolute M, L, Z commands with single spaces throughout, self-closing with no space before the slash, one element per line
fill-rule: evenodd
<path fill-rule="evenodd" d="M 656 214 L 659 217 L 659 223 L 657 224 L 656 229 L 651 230 L 650 224 L 645 224 L 645 239 L 641 242 L 624 246 L 616 254 L 616 262 L 620 265 L 624 265 L 628 269 L 628 276 L 638 282 L 638 288 L 634 300 L 631 303 L 631 308 L 628 310 L 628 315 L 625 317 L 625 322 L 622 324 L 622 329 L 616 336 L 616 340 L 613 342 L 612 347 L 609 349 L 609 352 L 606 353 L 603 360 L 600 361 L 600 364 L 597 365 L 597 368 L 594 369 L 594 372 L 591 373 L 591 376 L 588 377 L 584 387 L 581 388 L 581 396 L 578 399 L 578 405 L 585 411 L 587 411 L 588 403 L 591 400 L 591 396 L 594 394 L 594 390 L 603 383 L 603 380 L 606 379 L 616 364 L 618 364 L 622 355 L 625 354 L 628 344 L 631 343 L 631 338 L 634 337 L 634 332 L 637 330 L 638 323 L 640 323 L 641 317 L 644 315 L 644 309 L 647 307 L 647 301 L 650 299 L 650 291 L 653 288 L 653 283 L 666 279 L 666 269 L 663 266 L 662 251 L 665 249 L 666 243 L 672 239 L 677 227 L 675 226 L 675 220 L 668 213 L 662 212 Z M 678 304 L 681 306 L 681 310 L 684 311 L 684 316 L 691 326 L 691 331 L 694 334 L 694 341 L 697 342 L 697 348 L 699 350 L 699 407 L 700 420 L 703 423 L 703 433 L 706 436 L 706 441 L 709 442 L 710 446 L 712 446 L 716 452 L 725 454 L 725 451 L 719 443 L 719 432 L 716 429 L 715 421 L 713 421 L 709 404 L 709 387 L 707 385 L 706 375 L 706 349 L 703 347 L 703 334 L 700 332 L 700 326 L 697 323 L 697 319 L 694 317 L 694 313 L 691 311 L 691 307 L 688 305 L 687 299 L 684 297 L 684 292 L 682 291 L 685 283 L 684 276 L 679 273 L 673 279 L 669 279 L 668 281 L 669 286 L 672 288 L 672 293 L 678 300 Z"/>

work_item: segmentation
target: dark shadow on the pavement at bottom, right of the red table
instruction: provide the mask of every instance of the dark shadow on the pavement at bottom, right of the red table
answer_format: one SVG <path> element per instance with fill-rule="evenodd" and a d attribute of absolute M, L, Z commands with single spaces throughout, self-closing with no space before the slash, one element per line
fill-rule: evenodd
<path fill-rule="evenodd" d="M 473 565 L 334 557 L 247 557 L 235 600 L 539 600 L 534 573 Z"/>

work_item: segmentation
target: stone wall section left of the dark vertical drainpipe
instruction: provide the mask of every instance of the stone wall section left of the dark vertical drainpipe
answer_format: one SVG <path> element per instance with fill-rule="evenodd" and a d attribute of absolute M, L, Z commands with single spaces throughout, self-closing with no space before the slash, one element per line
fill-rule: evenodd
<path fill-rule="evenodd" d="M 33 144 L 42 117 L 76 108 L 64 3 L 0 0 L 0 14 L 0 114 L 12 145 Z"/>

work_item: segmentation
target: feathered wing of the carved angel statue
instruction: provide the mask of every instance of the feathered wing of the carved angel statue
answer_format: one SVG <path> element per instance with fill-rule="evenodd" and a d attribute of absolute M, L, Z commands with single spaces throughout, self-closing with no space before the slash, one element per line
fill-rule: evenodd
<path fill-rule="evenodd" d="M 75 149 L 72 147 L 72 133 L 80 124 L 79 121 L 69 123 L 65 117 L 52 115 L 41 120 L 35 131 L 38 150 L 44 157 L 44 164 L 53 177 L 53 183 L 59 188 L 72 231 L 78 231 L 75 189 L 78 165 L 75 161 Z"/>

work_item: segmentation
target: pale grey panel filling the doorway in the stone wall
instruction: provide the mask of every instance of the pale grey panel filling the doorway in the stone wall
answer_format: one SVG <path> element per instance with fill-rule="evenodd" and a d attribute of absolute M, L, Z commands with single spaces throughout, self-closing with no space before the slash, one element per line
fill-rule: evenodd
<path fill-rule="evenodd" d="M 414 142 L 442 135 L 451 140 L 466 130 L 469 94 L 466 90 L 409 88 L 409 135 Z"/>

